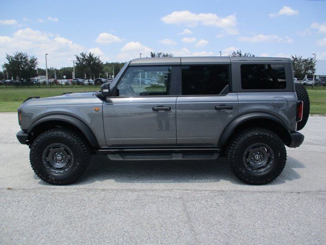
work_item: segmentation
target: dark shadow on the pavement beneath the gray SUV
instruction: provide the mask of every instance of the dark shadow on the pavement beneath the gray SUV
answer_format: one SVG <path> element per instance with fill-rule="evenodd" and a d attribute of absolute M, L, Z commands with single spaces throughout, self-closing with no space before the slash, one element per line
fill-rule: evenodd
<path fill-rule="evenodd" d="M 300 161 L 288 157 L 287 164 L 276 181 L 283 184 L 301 178 L 294 170 L 304 168 Z M 211 161 L 108 161 L 106 156 L 92 156 L 86 173 L 74 185 L 114 180 L 121 183 L 208 183 L 226 180 L 245 185 L 228 168 L 225 157 Z"/>

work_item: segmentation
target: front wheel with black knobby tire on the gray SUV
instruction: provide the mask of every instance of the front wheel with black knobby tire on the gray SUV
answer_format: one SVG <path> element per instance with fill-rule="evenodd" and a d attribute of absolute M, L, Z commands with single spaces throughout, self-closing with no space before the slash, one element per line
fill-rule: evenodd
<path fill-rule="evenodd" d="M 75 182 L 83 175 L 90 159 L 90 146 L 84 137 L 64 128 L 50 129 L 40 134 L 34 140 L 30 151 L 30 161 L 35 174 L 53 185 Z"/>

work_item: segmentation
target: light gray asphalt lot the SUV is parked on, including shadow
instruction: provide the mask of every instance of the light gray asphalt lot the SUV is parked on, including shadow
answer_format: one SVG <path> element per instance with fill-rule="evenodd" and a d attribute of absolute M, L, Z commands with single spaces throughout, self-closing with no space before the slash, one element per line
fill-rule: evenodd
<path fill-rule="evenodd" d="M 40 181 L 0 113 L 0 244 L 326 244 L 326 117 L 287 148 L 282 175 L 238 181 L 225 159 L 108 162 L 94 156 L 74 185 Z"/>

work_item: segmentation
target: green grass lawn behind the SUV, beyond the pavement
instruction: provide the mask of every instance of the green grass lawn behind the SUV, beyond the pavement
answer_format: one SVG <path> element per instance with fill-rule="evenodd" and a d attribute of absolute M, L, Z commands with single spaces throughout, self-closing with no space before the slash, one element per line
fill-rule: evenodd
<path fill-rule="evenodd" d="M 29 96 L 49 97 L 64 92 L 88 92 L 99 90 L 98 87 L 68 87 L 68 88 L 1 88 L 0 112 L 16 112 L 21 103 Z M 158 89 L 160 90 L 160 89 Z M 326 89 L 322 87 L 307 87 L 310 97 L 310 113 L 326 115 Z"/>

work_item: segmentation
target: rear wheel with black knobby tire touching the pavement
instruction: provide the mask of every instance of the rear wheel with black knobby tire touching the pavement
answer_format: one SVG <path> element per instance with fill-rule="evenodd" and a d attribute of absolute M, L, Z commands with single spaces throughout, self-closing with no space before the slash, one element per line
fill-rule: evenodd
<path fill-rule="evenodd" d="M 260 155 L 260 152 L 264 152 L 262 155 L 265 154 L 261 164 L 265 159 L 269 159 L 269 163 L 266 161 L 266 166 L 263 165 L 265 168 L 261 166 L 261 169 L 256 168 L 258 165 L 252 163 L 255 159 L 251 158 L 258 155 L 255 153 Z M 275 180 L 281 174 L 286 163 L 286 150 L 283 141 L 274 132 L 263 128 L 251 128 L 239 132 L 232 138 L 226 158 L 229 167 L 239 180 L 247 184 L 262 185 Z M 248 163 L 248 158 L 254 160 Z"/>

